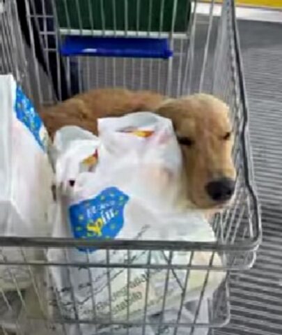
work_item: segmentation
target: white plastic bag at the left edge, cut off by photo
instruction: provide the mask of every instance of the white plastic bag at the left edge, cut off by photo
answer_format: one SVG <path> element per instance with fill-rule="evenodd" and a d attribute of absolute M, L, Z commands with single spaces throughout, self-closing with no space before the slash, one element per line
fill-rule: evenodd
<path fill-rule="evenodd" d="M 47 157 L 47 132 L 12 75 L 0 75 L 0 235 L 47 236 L 53 172 Z M 0 260 L 31 260 L 35 251 L 1 248 Z M 26 288 L 27 267 L 0 267 L 3 290 Z"/>

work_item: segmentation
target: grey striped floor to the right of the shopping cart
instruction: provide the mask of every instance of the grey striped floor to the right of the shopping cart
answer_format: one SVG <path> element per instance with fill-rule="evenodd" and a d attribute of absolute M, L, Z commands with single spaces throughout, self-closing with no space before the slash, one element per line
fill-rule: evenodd
<path fill-rule="evenodd" d="M 263 210 L 256 265 L 231 284 L 232 320 L 216 335 L 282 334 L 282 25 L 239 22 L 255 177 Z"/>

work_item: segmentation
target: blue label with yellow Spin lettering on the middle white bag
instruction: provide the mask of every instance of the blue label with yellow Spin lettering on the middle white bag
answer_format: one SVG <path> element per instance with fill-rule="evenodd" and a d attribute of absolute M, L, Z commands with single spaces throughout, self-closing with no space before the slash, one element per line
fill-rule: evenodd
<path fill-rule="evenodd" d="M 78 239 L 113 239 L 123 228 L 123 211 L 128 200 L 125 193 L 111 187 L 93 199 L 70 206 L 74 236 Z"/>

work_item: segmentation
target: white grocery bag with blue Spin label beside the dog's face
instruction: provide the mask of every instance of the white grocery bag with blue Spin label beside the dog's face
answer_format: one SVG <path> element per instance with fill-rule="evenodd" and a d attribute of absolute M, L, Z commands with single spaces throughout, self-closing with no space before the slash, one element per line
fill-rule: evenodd
<path fill-rule="evenodd" d="M 54 237 L 93 241 L 215 240 L 204 214 L 187 209 L 182 155 L 169 119 L 141 112 L 100 119 L 98 128 L 99 139 L 77 127 L 65 127 L 56 133 L 58 197 L 52 218 Z M 93 246 L 50 248 L 48 260 L 95 264 L 95 267 L 51 267 L 60 311 L 65 318 L 95 317 L 122 322 L 128 315 L 131 321 L 140 320 L 144 306 L 148 318 L 164 311 L 166 317 L 171 316 L 179 308 L 183 295 L 184 303 L 199 299 L 205 281 L 203 299 L 210 297 L 224 278 L 223 272 L 215 271 L 207 279 L 206 270 L 191 270 L 187 280 L 187 271 L 177 269 L 177 265 L 207 268 L 211 254 L 107 251 Z M 150 274 L 145 266 L 138 267 L 148 267 L 148 262 L 156 266 Z M 158 265 L 162 269 L 157 269 Z M 221 267 L 217 254 L 213 265 Z M 173 269 L 169 276 L 168 267 Z M 173 315 L 177 318 L 177 313 Z M 84 335 L 93 334 L 91 327 L 79 327 Z M 123 331 L 118 327 L 115 334 L 119 334 L 118 329 Z M 106 334 L 108 329 L 101 327 L 99 332 Z"/>

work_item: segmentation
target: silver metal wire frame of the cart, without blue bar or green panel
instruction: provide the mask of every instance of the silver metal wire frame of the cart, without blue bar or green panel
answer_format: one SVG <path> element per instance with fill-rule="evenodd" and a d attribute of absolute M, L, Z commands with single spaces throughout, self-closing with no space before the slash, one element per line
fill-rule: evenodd
<path fill-rule="evenodd" d="M 91 8 L 93 1 L 100 1 L 103 8 L 103 0 L 87 0 Z M 115 1 L 113 0 L 113 6 Z M 125 8 L 128 0 L 123 0 Z M 142 6 L 141 0 L 134 0 Z M 152 0 L 146 0 L 149 4 Z M 173 8 L 177 10 L 177 0 L 173 1 Z M 68 0 L 64 0 L 66 15 L 68 15 Z M 235 20 L 235 4 L 233 0 L 225 0 L 221 8 L 220 17 L 214 17 L 214 2 L 210 2 L 210 14 L 197 14 L 197 1 L 191 3 L 191 15 L 187 29 L 179 32 L 173 30 L 175 17 L 173 17 L 171 30 L 165 33 L 159 31 L 146 31 L 136 29 L 124 31 L 112 31 L 103 27 L 101 31 L 95 29 L 72 29 L 72 27 L 60 27 L 55 0 L 0 0 L 2 13 L 0 12 L 0 73 L 13 73 L 22 84 L 26 94 L 37 105 L 50 105 L 56 101 L 95 87 L 127 87 L 130 89 L 153 89 L 169 96 L 180 96 L 197 91 L 207 91 L 222 98 L 230 105 L 231 118 L 235 131 L 235 146 L 233 156 L 237 167 L 237 191 L 233 204 L 221 214 L 217 214 L 211 222 L 217 242 L 200 241 L 79 241 L 76 239 L 61 238 L 34 238 L 34 237 L 0 237 L 0 266 L 7 267 L 10 281 L 15 283 L 14 292 L 5 292 L 0 287 L 1 304 L 6 306 L 7 313 L 0 318 L 0 327 L 3 334 L 10 329 L 16 334 L 37 334 L 33 329 L 44 327 L 44 334 L 70 334 L 70 327 L 77 327 L 75 334 L 84 334 L 81 325 L 93 325 L 93 334 L 100 334 L 98 325 L 109 326 L 112 330 L 118 325 L 125 327 L 126 334 L 132 332 L 132 327 L 139 327 L 140 334 L 150 334 L 149 326 L 157 327 L 156 334 L 182 334 L 182 327 L 186 327 L 185 334 L 203 334 L 209 327 L 221 327 L 230 318 L 228 306 L 228 279 L 231 271 L 242 271 L 253 265 L 256 258 L 261 237 L 260 210 L 256 188 L 253 181 L 253 163 L 249 144 L 249 114 L 246 101 L 246 89 L 244 86 L 244 71 L 240 55 L 240 42 Z M 79 13 L 79 1 L 75 1 L 77 13 Z M 162 5 L 163 6 L 163 5 Z M 151 8 L 149 6 L 149 8 Z M 90 12 L 91 13 L 91 12 Z M 103 10 L 102 10 L 103 13 Z M 137 13 L 140 15 L 141 12 Z M 149 13 L 150 14 L 150 13 Z M 124 22 L 128 21 L 125 11 Z M 162 12 L 160 12 L 162 15 Z M 150 21 L 150 20 L 149 20 Z M 169 60 L 162 59 L 116 59 L 98 57 L 62 57 L 59 52 L 65 34 L 88 34 L 102 36 L 167 36 L 171 49 L 174 52 Z M 103 263 L 72 262 L 65 258 L 65 262 L 49 262 L 45 257 L 50 248 L 68 250 L 75 247 L 100 248 L 105 251 Z M 19 260 L 9 260 L 9 248 L 17 247 L 22 253 Z M 34 248 L 42 253 L 39 260 L 31 260 L 27 257 L 29 248 Z M 111 262 L 113 251 L 126 252 L 132 255 L 134 252 L 144 252 L 148 255 L 147 262 L 127 264 Z M 154 251 L 163 251 L 168 255 L 167 264 L 153 265 L 150 262 Z M 189 262 L 187 264 L 175 264 L 170 260 L 177 252 L 187 252 Z M 194 265 L 193 259 L 197 252 L 205 253 L 209 258 L 208 265 Z M 222 265 L 214 263 L 214 255 L 221 257 Z M 17 285 L 17 278 L 13 275 L 13 267 L 22 267 L 31 277 L 33 297 L 37 301 L 42 313 L 35 317 L 26 304 L 26 292 Z M 194 320 L 181 323 L 180 319 L 173 322 L 164 322 L 162 317 L 156 322 L 147 320 L 146 305 L 143 307 L 142 320 L 130 320 L 130 306 L 127 306 L 127 318 L 124 320 L 100 320 L 95 318 L 81 320 L 79 313 L 74 318 L 66 318 L 60 312 L 60 292 L 56 285 L 51 284 L 48 290 L 52 292 L 56 301 L 56 315 L 45 313 L 45 297 L 43 291 L 47 290 L 47 284 L 42 280 L 42 272 L 49 277 L 51 267 L 68 267 L 86 269 L 120 268 L 127 271 L 127 295 L 130 292 L 130 273 L 134 269 L 150 271 L 157 269 L 166 271 L 166 281 L 174 271 L 185 271 L 187 281 L 190 271 L 205 271 L 205 283 L 197 301 L 194 301 Z M 210 273 L 225 271 L 226 279 L 207 299 L 208 320 L 198 320 L 201 306 L 205 300 L 205 288 Z M 111 282 L 107 283 L 111 292 Z M 148 283 L 147 283 L 148 285 Z M 164 284 L 163 311 L 166 305 L 167 285 Z M 183 288 L 183 296 L 186 288 Z M 19 313 L 15 312 L 15 306 L 10 303 L 10 296 L 15 295 L 15 304 L 19 303 Z M 76 301 L 72 301 L 76 306 Z M 183 301 L 180 301 L 179 315 L 182 313 Z M 74 307 L 76 308 L 76 307 Z M 44 311 L 43 311 L 44 310 Z M 10 313 L 8 313 L 10 311 Z M 5 316 L 6 315 L 6 316 Z M 8 315 L 8 316 L 7 316 Z M 1 321 L 2 320 L 2 321 Z M 8 322 L 8 323 L 7 323 Z M 9 323 L 10 322 L 10 323 Z M 9 327 L 7 326 L 9 325 Z M 11 324 L 15 327 L 11 328 Z M 23 326 L 24 325 L 24 326 Z M 40 325 L 40 326 L 38 326 Z M 27 328 L 25 328 L 27 327 Z M 82 328 L 81 328 L 82 327 Z M 0 328 L 0 329 L 1 329 Z M 24 329 L 29 329 L 24 330 Z M 43 328 L 42 328 L 43 329 Z M 82 329 L 82 330 L 81 330 Z M 95 332 L 96 331 L 96 332 Z M 56 333 L 58 332 L 58 333 Z M 179 332 L 179 333 L 178 333 Z M 199 332 L 199 333 L 198 333 Z M 210 334 L 212 330 L 209 331 Z M 111 334 L 111 333 L 109 333 Z"/>

